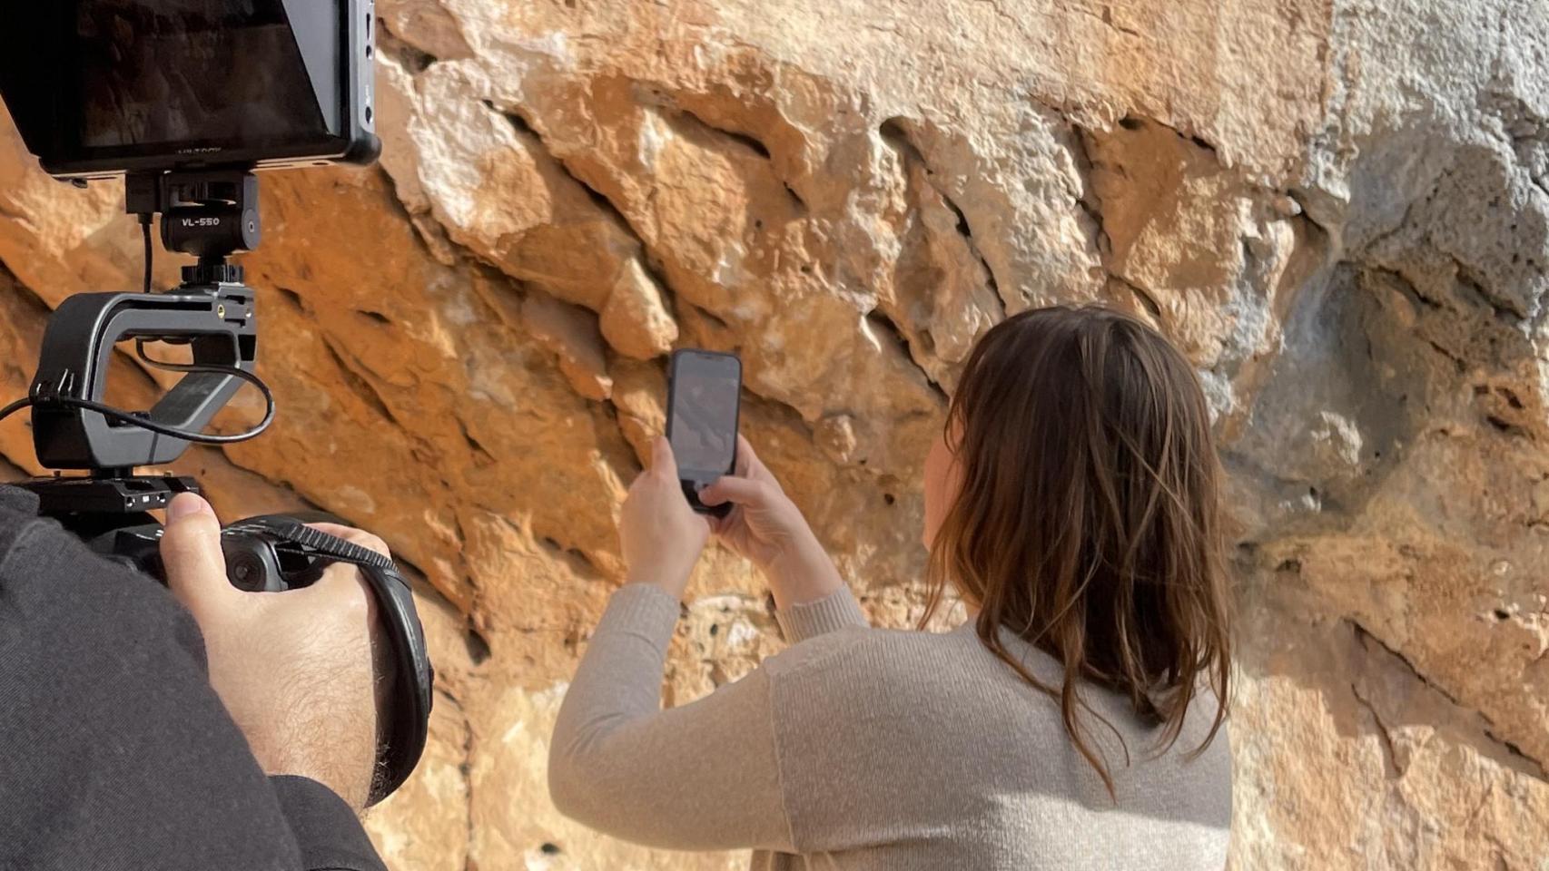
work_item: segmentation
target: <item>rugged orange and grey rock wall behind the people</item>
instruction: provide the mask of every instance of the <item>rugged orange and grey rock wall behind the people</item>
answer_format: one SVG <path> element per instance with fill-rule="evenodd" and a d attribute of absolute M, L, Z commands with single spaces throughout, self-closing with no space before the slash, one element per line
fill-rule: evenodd
<path fill-rule="evenodd" d="M 1218 413 L 1233 865 L 1546 868 L 1541 0 L 378 12 L 381 166 L 263 181 L 246 263 L 282 415 L 178 469 L 228 517 L 318 504 L 423 572 L 441 687 L 370 820 L 393 868 L 739 866 L 590 834 L 544 786 L 665 354 L 744 356 L 747 433 L 903 625 L 963 356 L 1056 300 L 1149 317 Z M 135 286 L 119 196 L 48 181 L 0 124 L 5 395 L 50 306 Z M 0 456 L 37 472 L 22 421 Z M 737 560 L 689 594 L 669 702 L 779 647 Z"/>

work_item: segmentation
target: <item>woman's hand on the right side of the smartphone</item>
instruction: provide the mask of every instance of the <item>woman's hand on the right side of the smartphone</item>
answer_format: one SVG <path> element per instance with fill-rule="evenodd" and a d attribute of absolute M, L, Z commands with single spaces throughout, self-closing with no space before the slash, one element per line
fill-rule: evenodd
<path fill-rule="evenodd" d="M 781 610 L 826 599 L 844 586 L 840 571 L 748 439 L 737 436 L 736 475 L 699 492 L 708 506 L 731 503 L 711 529 L 737 554 L 759 566 Z"/>

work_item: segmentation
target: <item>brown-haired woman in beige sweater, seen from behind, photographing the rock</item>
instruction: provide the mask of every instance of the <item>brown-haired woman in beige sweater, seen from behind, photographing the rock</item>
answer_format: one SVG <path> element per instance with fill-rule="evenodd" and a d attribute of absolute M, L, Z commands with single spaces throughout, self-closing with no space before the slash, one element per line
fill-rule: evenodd
<path fill-rule="evenodd" d="M 754 868 L 1219 869 L 1231 675 L 1210 412 L 1188 362 L 1100 308 L 1007 319 L 925 464 L 931 608 L 871 628 L 742 442 L 689 511 L 658 441 L 624 503 L 629 580 L 550 752 L 562 812 Z M 660 710 L 678 597 L 716 532 L 767 576 L 790 650 Z M 923 625 L 923 620 L 922 620 Z"/>

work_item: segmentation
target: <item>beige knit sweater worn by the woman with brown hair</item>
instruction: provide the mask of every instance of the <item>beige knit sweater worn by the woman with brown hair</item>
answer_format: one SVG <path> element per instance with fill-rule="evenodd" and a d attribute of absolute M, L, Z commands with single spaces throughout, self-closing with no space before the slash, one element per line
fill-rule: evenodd
<path fill-rule="evenodd" d="M 984 648 L 874 630 L 841 591 L 779 616 L 792 648 L 692 704 L 661 710 L 678 602 L 613 594 L 555 727 L 548 787 L 568 817 L 669 849 L 754 849 L 753 868 L 824 871 L 1219 871 L 1231 817 L 1225 733 L 1190 716 L 1156 732 L 1115 695 L 1086 698 L 1117 806 L 1066 736 L 1060 707 Z M 1055 685 L 1053 658 L 1008 637 Z"/>

